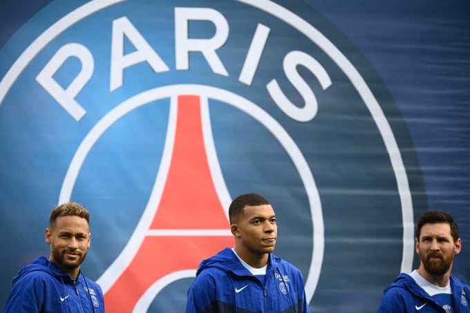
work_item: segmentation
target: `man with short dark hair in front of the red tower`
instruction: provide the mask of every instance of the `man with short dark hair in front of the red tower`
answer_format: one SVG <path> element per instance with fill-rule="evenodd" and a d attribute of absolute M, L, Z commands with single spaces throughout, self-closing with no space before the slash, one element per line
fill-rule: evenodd
<path fill-rule="evenodd" d="M 270 202 L 245 193 L 229 207 L 233 249 L 203 260 L 188 290 L 187 313 L 310 313 L 303 277 L 274 256 L 276 215 Z"/>

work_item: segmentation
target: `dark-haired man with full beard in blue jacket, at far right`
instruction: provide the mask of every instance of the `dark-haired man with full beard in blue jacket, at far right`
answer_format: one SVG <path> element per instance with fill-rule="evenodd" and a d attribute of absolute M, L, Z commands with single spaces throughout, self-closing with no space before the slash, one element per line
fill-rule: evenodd
<path fill-rule="evenodd" d="M 420 267 L 386 287 L 378 312 L 470 312 L 469 285 L 451 275 L 453 257 L 461 248 L 458 226 L 449 214 L 424 213 L 416 230 Z"/>

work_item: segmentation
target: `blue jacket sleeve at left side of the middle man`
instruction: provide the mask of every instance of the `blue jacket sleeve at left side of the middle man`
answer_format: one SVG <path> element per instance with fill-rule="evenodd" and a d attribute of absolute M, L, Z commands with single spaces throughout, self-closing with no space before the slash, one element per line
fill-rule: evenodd
<path fill-rule="evenodd" d="M 189 286 L 186 313 L 216 313 L 216 279 L 209 271 L 200 272 Z"/>

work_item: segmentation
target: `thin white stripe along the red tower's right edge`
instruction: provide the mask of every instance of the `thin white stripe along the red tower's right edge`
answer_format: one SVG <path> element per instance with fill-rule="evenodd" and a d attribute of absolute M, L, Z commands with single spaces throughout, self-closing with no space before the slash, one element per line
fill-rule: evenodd
<path fill-rule="evenodd" d="M 223 179 L 223 173 L 220 169 L 220 164 L 218 162 L 216 146 L 214 144 L 214 137 L 212 137 L 212 126 L 211 118 L 209 113 L 209 102 L 207 96 L 200 97 L 200 111 L 201 111 L 201 120 L 203 121 L 203 137 L 204 144 L 207 154 L 207 162 L 209 163 L 209 170 L 211 171 L 212 180 L 214 181 L 214 187 L 216 188 L 216 193 L 220 204 L 224 208 L 225 217 L 227 217 L 227 227 L 229 223 L 229 205 L 232 202 L 232 197 L 227 189 L 225 180 Z"/>

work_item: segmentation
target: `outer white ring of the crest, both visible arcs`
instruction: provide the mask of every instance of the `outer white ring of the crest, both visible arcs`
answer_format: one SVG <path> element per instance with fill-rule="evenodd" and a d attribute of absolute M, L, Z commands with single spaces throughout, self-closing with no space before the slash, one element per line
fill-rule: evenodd
<path fill-rule="evenodd" d="M 350 64 L 350 61 L 346 59 L 346 57 L 326 38 L 324 37 L 321 32 L 319 32 L 316 28 L 307 23 L 305 20 L 301 19 L 297 15 L 294 15 L 289 10 L 279 6 L 278 4 L 268 1 L 268 0 L 236 0 L 243 3 L 246 3 L 250 6 L 260 8 L 265 12 L 269 12 L 271 15 L 278 17 L 279 19 L 289 23 L 292 27 L 297 28 L 300 32 L 302 32 L 306 37 L 310 40 L 318 44 L 320 48 L 325 51 L 327 55 L 331 57 L 333 61 L 344 71 L 346 76 L 350 79 L 350 82 L 355 86 L 356 90 L 361 95 L 364 103 L 368 107 L 371 115 L 373 116 L 377 127 L 384 139 L 384 143 L 386 145 L 386 149 L 388 151 L 388 155 L 391 157 L 391 163 L 393 166 L 393 170 L 395 172 L 395 178 L 397 180 L 397 187 L 399 190 L 400 201 L 402 203 L 402 220 L 403 220 L 403 254 L 402 254 L 402 272 L 409 272 L 411 270 L 412 262 L 413 262 L 413 229 L 414 229 L 414 222 L 413 222 L 413 205 L 411 201 L 411 191 L 409 190 L 408 186 L 408 179 L 406 177 L 406 169 L 404 168 L 404 164 L 402 162 L 402 158 L 400 155 L 400 149 L 398 149 L 397 143 L 395 142 L 395 138 L 393 137 L 393 132 L 391 131 L 388 122 L 380 108 L 377 100 L 373 96 L 372 92 L 368 88 L 364 79 L 359 75 L 357 69 Z M 100 3 L 98 1 L 92 1 L 93 3 Z M 112 5 L 113 2 L 106 3 L 102 1 L 101 3 L 105 3 L 102 8 Z M 84 6 L 85 7 L 85 6 Z M 99 9 L 98 9 L 99 10 Z M 91 10 L 93 11 L 93 10 Z M 82 15 L 84 17 L 86 15 Z M 80 17 L 81 18 L 81 17 Z M 60 21 L 64 21 L 68 19 L 64 17 Z M 60 25 L 59 23 L 54 24 L 51 28 L 49 28 L 46 32 L 48 35 L 52 33 L 52 30 L 57 30 L 57 33 L 54 33 L 51 37 L 57 36 L 62 30 L 70 27 L 75 23 L 79 18 L 72 18 L 69 19 L 69 23 L 67 26 Z M 43 35 L 45 35 L 44 33 Z M 42 36 L 44 37 L 44 36 Z M 35 50 L 39 46 L 39 50 L 41 47 L 44 47 L 48 40 L 43 40 L 42 37 L 38 37 L 21 55 L 21 57 L 15 62 L 14 66 L 8 70 L 6 77 L 0 82 L 0 105 L 3 102 L 3 98 L 5 97 L 6 93 L 10 89 L 10 86 L 15 82 L 17 76 L 23 68 L 25 68 L 28 64 L 30 59 L 32 59 L 35 55 L 37 55 L 38 50 Z M 34 50 L 34 51 L 33 51 Z M 20 61 L 21 60 L 21 61 Z M 70 170 L 70 169 L 69 169 Z M 61 191 L 62 193 L 62 191 Z"/>

